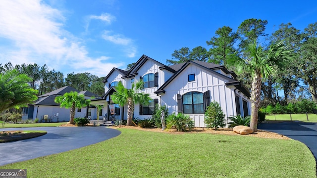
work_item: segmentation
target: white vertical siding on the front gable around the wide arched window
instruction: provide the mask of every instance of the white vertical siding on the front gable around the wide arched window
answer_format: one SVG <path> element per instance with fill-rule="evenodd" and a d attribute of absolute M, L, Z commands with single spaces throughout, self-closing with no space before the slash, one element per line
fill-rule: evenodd
<path fill-rule="evenodd" d="M 188 82 L 188 75 L 195 74 L 195 81 Z M 165 93 L 161 94 L 161 104 L 168 107 L 169 114 L 177 113 L 177 94 L 185 94 L 190 91 L 206 92 L 210 90 L 211 101 L 217 101 L 225 117 L 236 114 L 234 87 L 226 87 L 228 79 L 221 75 L 211 73 L 196 65 L 187 66 L 172 83 L 164 88 Z M 204 114 L 189 114 L 195 122 L 195 127 L 206 127 Z"/>

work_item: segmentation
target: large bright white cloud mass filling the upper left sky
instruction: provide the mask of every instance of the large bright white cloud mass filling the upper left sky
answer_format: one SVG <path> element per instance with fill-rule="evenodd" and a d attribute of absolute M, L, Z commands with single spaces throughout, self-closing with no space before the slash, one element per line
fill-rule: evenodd
<path fill-rule="evenodd" d="M 92 18 L 113 20 L 108 14 Z M 1 0 L 0 39 L 6 43 L 0 42 L 0 63 L 47 64 L 50 69 L 62 70 L 64 75 L 90 72 L 98 76 L 123 65 L 106 64 L 106 56 L 89 57 L 82 39 L 63 29 L 65 22 L 61 11 L 41 0 Z"/>

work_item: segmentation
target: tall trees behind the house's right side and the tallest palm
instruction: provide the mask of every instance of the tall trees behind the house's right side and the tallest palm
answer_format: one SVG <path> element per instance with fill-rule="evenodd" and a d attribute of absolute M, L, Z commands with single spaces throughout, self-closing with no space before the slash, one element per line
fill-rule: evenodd
<path fill-rule="evenodd" d="M 205 47 L 197 46 L 192 50 L 182 47 L 175 50 L 167 64 L 177 64 L 187 60 L 201 60 L 226 66 L 228 69 L 237 71 L 241 68 L 234 68 L 228 64 L 233 58 L 247 59 L 246 47 L 256 41 L 266 49 L 276 41 L 283 41 L 288 49 L 293 50 L 291 59 L 283 63 L 275 75 L 270 76 L 262 82 L 261 105 L 287 106 L 302 99 L 312 99 L 317 102 L 317 22 L 308 24 L 300 31 L 291 23 L 280 24 L 272 34 L 265 33 L 267 20 L 247 19 L 243 21 L 237 31 L 228 26 L 218 28 L 215 35 Z M 244 70 L 244 69 L 242 69 Z M 247 71 L 247 70 L 246 70 Z M 251 89 L 250 73 L 238 76 L 238 80 Z M 280 93 L 284 96 L 280 96 Z"/>

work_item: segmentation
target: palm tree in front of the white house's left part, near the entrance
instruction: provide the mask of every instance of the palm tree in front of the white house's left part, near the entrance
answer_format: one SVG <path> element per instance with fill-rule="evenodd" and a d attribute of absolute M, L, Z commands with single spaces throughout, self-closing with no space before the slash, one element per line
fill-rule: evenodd
<path fill-rule="evenodd" d="M 126 89 L 122 85 L 121 82 L 118 83 L 118 86 L 115 87 L 116 92 L 111 95 L 111 99 L 114 103 L 119 104 L 120 106 L 124 106 L 125 104 L 128 105 L 128 120 L 127 126 L 132 125 L 132 117 L 134 113 L 134 104 L 141 103 L 141 104 L 149 104 L 150 100 L 152 100 L 149 94 L 145 94 L 141 92 L 143 89 L 144 83 L 141 80 L 136 84 L 132 84 L 131 89 Z"/>

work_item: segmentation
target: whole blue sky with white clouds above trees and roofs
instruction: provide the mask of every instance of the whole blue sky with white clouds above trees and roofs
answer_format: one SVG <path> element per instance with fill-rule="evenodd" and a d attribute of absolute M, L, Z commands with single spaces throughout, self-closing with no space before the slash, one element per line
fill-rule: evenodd
<path fill-rule="evenodd" d="M 316 0 L 1 0 L 0 63 L 47 64 L 68 73 L 106 76 L 142 54 L 165 64 L 175 49 L 206 45 L 215 31 L 246 19 L 266 33 L 317 21 Z"/>

